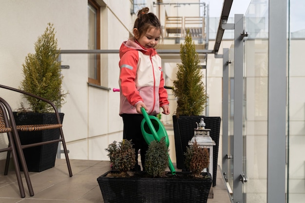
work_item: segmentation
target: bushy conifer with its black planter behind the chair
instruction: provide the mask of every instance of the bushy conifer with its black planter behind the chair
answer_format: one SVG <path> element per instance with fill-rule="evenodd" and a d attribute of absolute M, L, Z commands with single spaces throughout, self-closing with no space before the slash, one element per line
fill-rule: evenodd
<path fill-rule="evenodd" d="M 66 97 L 66 92 L 62 90 L 61 62 L 58 61 L 59 52 L 57 50 L 57 38 L 55 37 L 53 24 L 48 23 L 45 32 L 38 37 L 35 42 L 35 54 L 28 54 L 25 62 L 22 64 L 24 79 L 21 81 L 21 90 L 43 97 L 60 108 Z M 55 114 L 51 111 L 53 108 L 46 102 L 37 100 L 34 97 L 24 95 L 26 104 L 21 103 L 18 112 L 14 112 L 17 125 L 44 124 L 56 121 Z M 63 113 L 59 113 L 61 122 Z M 24 119 L 27 117 L 27 119 Z M 31 119 L 29 119 L 31 118 Z M 24 123 L 24 120 L 33 121 L 33 123 Z M 19 132 L 22 144 L 35 143 L 40 141 L 59 138 L 59 130 L 43 130 L 37 132 Z M 29 171 L 40 172 L 53 167 L 57 154 L 57 143 L 25 148 L 24 156 Z"/>

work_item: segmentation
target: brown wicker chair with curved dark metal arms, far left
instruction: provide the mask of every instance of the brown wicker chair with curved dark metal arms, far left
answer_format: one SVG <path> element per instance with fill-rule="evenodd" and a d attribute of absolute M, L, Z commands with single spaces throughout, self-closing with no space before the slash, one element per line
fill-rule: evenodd
<path fill-rule="evenodd" d="M 64 151 L 64 154 L 65 154 L 67 166 L 68 166 L 69 175 L 70 175 L 70 177 L 72 177 L 73 174 L 72 174 L 72 169 L 71 169 L 71 165 L 70 165 L 70 161 L 69 161 L 68 150 L 67 150 L 67 147 L 66 147 L 66 143 L 65 143 L 65 139 L 64 139 L 64 135 L 63 135 L 63 131 L 62 131 L 62 124 L 61 124 L 59 113 L 57 111 L 56 106 L 52 102 L 50 102 L 49 100 L 47 100 L 45 98 L 42 98 L 40 96 L 34 95 L 32 93 L 29 93 L 29 92 L 21 91 L 21 90 L 11 88 L 11 87 L 8 87 L 8 86 L 4 86 L 4 85 L 0 85 L 0 88 L 11 90 L 11 91 L 14 91 L 14 92 L 19 92 L 19 93 L 22 93 L 22 94 L 26 94 L 26 95 L 35 97 L 39 100 L 42 100 L 44 102 L 49 103 L 53 107 L 53 109 L 55 111 L 55 114 L 56 114 L 56 117 L 57 117 L 57 123 L 56 124 L 46 124 L 46 125 L 39 124 L 39 125 L 17 126 L 16 122 L 15 122 L 15 119 L 14 119 L 14 114 L 13 114 L 13 111 L 12 111 L 10 105 L 3 98 L 0 97 L 0 102 L 5 106 L 5 109 L 7 110 L 7 112 L 3 111 L 3 112 L 5 112 L 3 114 L 8 114 L 7 117 L 9 118 L 9 121 L 10 121 L 10 123 L 8 123 L 9 125 L 5 125 L 5 127 L 8 128 L 8 130 L 10 132 L 12 132 L 12 134 L 14 136 L 14 140 L 15 140 L 14 144 L 15 144 L 15 147 L 17 148 L 17 151 L 18 151 L 18 154 L 19 154 L 20 163 L 21 163 L 21 166 L 22 166 L 22 169 L 23 169 L 23 172 L 24 172 L 25 179 L 27 181 L 27 185 L 28 185 L 28 188 L 29 188 L 30 195 L 33 196 L 34 191 L 33 191 L 33 187 L 32 187 L 32 184 L 31 184 L 28 168 L 26 166 L 26 161 L 25 161 L 25 158 L 24 158 L 24 155 L 23 155 L 23 149 L 24 148 L 31 148 L 31 147 L 36 147 L 36 146 L 42 146 L 42 145 L 46 145 L 46 144 L 61 142 L 62 146 L 63 146 L 63 151 Z M 18 133 L 19 131 L 40 131 L 40 130 L 47 130 L 47 129 L 59 129 L 59 134 L 60 134 L 59 139 L 50 140 L 50 141 L 41 141 L 41 142 L 33 143 L 33 144 L 21 145 L 20 139 L 19 139 L 19 133 Z M 10 141 L 10 145 L 13 147 L 13 142 Z M 9 163 L 9 158 L 10 158 L 10 152 L 11 151 L 12 151 L 12 155 L 13 155 L 13 159 L 14 159 L 13 150 L 8 150 L 7 151 L 6 166 L 5 166 L 5 173 L 6 174 L 8 172 L 8 163 Z M 17 170 L 18 169 L 16 169 L 16 173 L 18 173 Z M 17 174 L 17 176 L 18 176 L 18 174 Z M 21 190 L 20 190 L 20 193 L 21 193 Z M 23 191 L 23 193 L 24 193 L 24 191 Z M 22 194 L 21 194 L 21 196 L 22 196 Z"/>

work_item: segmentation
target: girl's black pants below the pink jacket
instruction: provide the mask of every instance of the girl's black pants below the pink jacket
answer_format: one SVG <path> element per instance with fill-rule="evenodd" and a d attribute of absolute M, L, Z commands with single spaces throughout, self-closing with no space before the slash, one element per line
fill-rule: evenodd
<path fill-rule="evenodd" d="M 142 114 L 122 114 L 124 123 L 123 139 L 132 140 L 133 148 L 135 149 L 135 170 L 138 169 L 138 151 L 140 150 L 142 168 L 144 169 L 145 154 L 148 145 L 142 135 L 141 122 L 143 120 Z"/>

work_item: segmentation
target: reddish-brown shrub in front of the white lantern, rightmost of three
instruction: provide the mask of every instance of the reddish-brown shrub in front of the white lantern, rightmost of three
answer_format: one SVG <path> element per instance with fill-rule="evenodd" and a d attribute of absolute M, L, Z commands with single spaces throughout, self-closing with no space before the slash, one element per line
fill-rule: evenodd
<path fill-rule="evenodd" d="M 209 166 L 210 156 L 207 148 L 201 148 L 197 141 L 187 147 L 184 153 L 185 166 L 189 169 L 193 176 L 201 177 L 201 171 Z"/>

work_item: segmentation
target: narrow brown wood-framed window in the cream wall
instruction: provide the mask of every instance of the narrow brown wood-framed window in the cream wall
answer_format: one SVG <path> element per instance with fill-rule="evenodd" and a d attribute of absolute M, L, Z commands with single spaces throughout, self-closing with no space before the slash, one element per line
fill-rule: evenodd
<path fill-rule="evenodd" d="M 88 50 L 100 49 L 100 8 L 88 0 Z M 100 85 L 100 55 L 88 55 L 88 82 Z"/>

